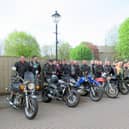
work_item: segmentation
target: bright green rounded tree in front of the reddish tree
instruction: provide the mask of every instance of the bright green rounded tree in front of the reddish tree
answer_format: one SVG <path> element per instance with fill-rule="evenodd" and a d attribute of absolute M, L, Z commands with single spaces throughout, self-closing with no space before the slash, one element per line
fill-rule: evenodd
<path fill-rule="evenodd" d="M 74 60 L 91 60 L 93 55 L 90 48 L 81 43 L 80 45 L 71 49 L 70 57 Z"/>

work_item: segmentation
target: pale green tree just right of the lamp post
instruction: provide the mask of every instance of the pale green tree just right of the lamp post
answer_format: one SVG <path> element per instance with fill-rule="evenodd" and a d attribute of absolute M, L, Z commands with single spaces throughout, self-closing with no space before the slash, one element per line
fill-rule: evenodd
<path fill-rule="evenodd" d="M 69 43 L 62 43 L 59 45 L 58 48 L 58 55 L 59 55 L 59 59 L 70 59 L 70 50 L 71 50 L 71 46 Z"/>

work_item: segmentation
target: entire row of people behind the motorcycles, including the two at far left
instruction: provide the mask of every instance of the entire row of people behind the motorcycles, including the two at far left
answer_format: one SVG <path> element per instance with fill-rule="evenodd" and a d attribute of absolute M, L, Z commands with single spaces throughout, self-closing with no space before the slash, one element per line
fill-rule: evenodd
<path fill-rule="evenodd" d="M 38 74 L 42 76 L 44 81 L 50 78 L 52 74 L 56 74 L 58 78 L 61 78 L 62 75 L 69 75 L 75 79 L 78 76 L 88 74 L 92 74 L 94 77 L 101 77 L 103 72 L 122 77 L 129 75 L 129 62 L 122 61 L 111 64 L 110 61 L 103 63 L 99 60 L 92 60 L 89 64 L 86 60 L 81 62 L 48 60 L 41 68 L 37 56 L 33 56 L 30 62 L 27 62 L 25 57 L 21 56 L 20 61 L 15 63 L 15 67 L 21 77 L 24 77 L 24 73 L 28 70 L 33 72 L 34 75 L 36 70 L 38 70 Z"/>

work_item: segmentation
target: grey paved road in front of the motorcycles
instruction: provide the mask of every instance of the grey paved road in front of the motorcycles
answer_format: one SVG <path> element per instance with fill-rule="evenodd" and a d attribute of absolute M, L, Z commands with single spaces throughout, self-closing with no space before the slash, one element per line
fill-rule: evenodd
<path fill-rule="evenodd" d="M 81 97 L 76 108 L 57 101 L 39 102 L 34 120 L 27 120 L 23 111 L 10 108 L 4 99 L 0 98 L 0 129 L 129 129 L 129 95 L 104 97 L 97 103 Z"/>

